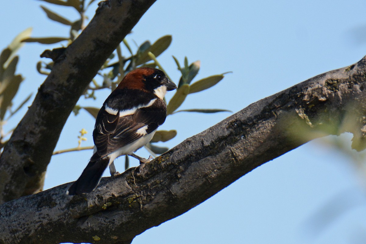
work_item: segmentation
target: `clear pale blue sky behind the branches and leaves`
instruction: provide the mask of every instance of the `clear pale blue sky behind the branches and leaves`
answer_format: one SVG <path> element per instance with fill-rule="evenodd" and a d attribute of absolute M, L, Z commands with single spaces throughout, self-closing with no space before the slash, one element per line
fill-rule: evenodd
<path fill-rule="evenodd" d="M 96 3 L 88 12 L 90 18 Z M 77 18 L 75 12 L 43 1 L 4 1 L 0 8 L 1 49 L 27 27 L 33 27 L 34 37 L 68 35 L 68 27 L 48 20 L 40 4 L 71 20 Z M 211 89 L 189 95 L 182 109 L 238 112 L 303 80 L 360 60 L 366 55 L 365 12 L 366 3 L 361 0 L 158 0 L 127 40 L 141 44 L 171 34 L 173 42 L 158 60 L 176 83 L 179 72 L 172 55 L 181 62 L 184 56 L 190 62 L 201 60 L 198 79 L 232 71 Z M 35 68 L 39 55 L 58 46 L 27 44 L 19 51 L 18 72 L 26 80 L 15 102 L 30 92 L 36 94 L 45 79 Z M 108 91 L 100 91 L 96 101 L 81 99 L 78 104 L 100 107 L 107 96 Z M 6 128 L 14 127 L 24 113 L 25 109 Z M 169 116 L 161 129 L 177 129 L 178 135 L 161 145 L 173 147 L 229 115 Z M 84 111 L 76 117 L 70 115 L 56 150 L 77 146 L 82 128 L 89 131 L 82 145 L 91 145 L 93 126 L 94 119 Z M 344 140 L 349 148 L 351 135 L 326 139 Z M 148 156 L 145 150 L 138 154 Z M 91 151 L 53 156 L 45 189 L 76 180 L 90 156 Z M 115 164 L 123 171 L 122 159 Z M 365 243 L 365 185 L 365 171 L 326 140 L 315 140 L 260 166 L 132 243 Z"/>

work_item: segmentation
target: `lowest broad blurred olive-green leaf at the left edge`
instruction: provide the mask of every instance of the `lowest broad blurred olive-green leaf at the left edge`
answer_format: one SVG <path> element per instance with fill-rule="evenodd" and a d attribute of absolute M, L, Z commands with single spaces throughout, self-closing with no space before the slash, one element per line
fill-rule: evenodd
<path fill-rule="evenodd" d="M 11 105 L 16 92 L 19 89 L 20 83 L 23 81 L 21 75 L 15 75 L 9 82 L 9 85 L 4 89 L 3 93 L 0 94 L 1 105 L 0 105 L 0 120 L 4 119 L 7 108 Z"/>

